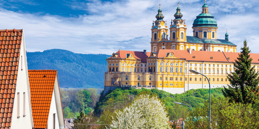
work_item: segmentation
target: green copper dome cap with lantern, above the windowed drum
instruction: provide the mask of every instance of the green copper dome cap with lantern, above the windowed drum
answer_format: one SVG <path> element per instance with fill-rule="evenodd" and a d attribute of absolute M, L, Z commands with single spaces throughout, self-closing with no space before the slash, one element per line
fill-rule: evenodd
<path fill-rule="evenodd" d="M 216 20 L 211 14 L 208 13 L 207 8 L 208 6 L 205 3 L 202 6 L 202 13 L 196 16 L 192 27 L 218 27 Z"/>

